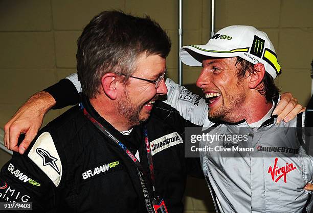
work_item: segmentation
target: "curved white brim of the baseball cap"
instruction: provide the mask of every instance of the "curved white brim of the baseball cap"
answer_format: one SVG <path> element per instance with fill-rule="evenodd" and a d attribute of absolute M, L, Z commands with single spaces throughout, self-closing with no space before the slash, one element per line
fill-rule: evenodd
<path fill-rule="evenodd" d="M 183 46 L 180 50 L 181 61 L 189 66 L 201 66 L 202 61 L 206 56 L 229 58 L 240 56 L 241 52 L 247 52 L 248 49 L 223 49 L 219 46 L 204 44 L 204 45 L 188 45 Z"/>

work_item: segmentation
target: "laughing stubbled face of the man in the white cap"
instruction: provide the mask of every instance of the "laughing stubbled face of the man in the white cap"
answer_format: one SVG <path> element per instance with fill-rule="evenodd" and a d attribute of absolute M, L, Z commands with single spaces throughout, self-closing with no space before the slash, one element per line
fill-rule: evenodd
<path fill-rule="evenodd" d="M 238 79 L 236 58 L 204 60 L 196 85 L 201 88 L 208 103 L 212 121 L 238 122 L 247 96 L 245 78 Z M 239 120 L 238 120 L 239 119 Z"/>

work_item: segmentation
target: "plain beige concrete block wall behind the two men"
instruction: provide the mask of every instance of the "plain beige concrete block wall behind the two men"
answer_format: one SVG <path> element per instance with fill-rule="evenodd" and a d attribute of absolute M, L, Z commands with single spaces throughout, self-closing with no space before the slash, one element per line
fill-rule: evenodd
<path fill-rule="evenodd" d="M 310 97 L 313 57 L 313 1 L 215 0 L 216 29 L 233 24 L 265 31 L 277 50 L 281 91 L 290 91 L 305 105 Z M 3 0 L 0 1 L 0 128 L 33 93 L 75 72 L 76 40 L 83 26 L 102 10 L 118 9 L 150 15 L 167 31 L 172 51 L 168 77 L 177 80 L 178 1 L 174 0 Z M 183 1 L 183 44 L 204 44 L 210 38 L 210 1 Z M 200 68 L 184 66 L 184 84 L 193 84 Z M 44 124 L 64 110 L 49 112 Z M 9 156 L 0 150 L 0 166 Z M 214 212 L 204 181 L 189 179 L 186 212 Z"/>

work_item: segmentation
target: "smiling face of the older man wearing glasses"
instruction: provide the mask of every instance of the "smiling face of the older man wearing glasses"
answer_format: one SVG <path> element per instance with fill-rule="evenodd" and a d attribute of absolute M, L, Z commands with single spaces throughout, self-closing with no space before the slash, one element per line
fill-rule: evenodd
<path fill-rule="evenodd" d="M 166 60 L 159 55 L 147 57 L 146 54 L 143 54 L 137 60 L 136 67 L 132 76 L 155 80 L 164 73 Z M 131 125 L 138 125 L 149 118 L 153 103 L 158 96 L 166 95 L 166 93 L 164 79 L 155 89 L 153 83 L 130 77 L 129 84 L 125 85 L 116 107 Z"/>

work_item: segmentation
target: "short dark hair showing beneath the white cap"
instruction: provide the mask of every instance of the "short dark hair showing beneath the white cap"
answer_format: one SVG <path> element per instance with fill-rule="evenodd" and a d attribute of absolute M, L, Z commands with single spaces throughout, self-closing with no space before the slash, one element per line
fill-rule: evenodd
<path fill-rule="evenodd" d="M 237 57 L 235 66 L 238 69 L 237 77 L 239 80 L 246 77 L 245 73 L 247 71 L 249 72 L 249 74 L 255 72 L 254 64 L 240 57 Z M 279 72 L 279 74 L 280 73 L 281 72 Z M 265 72 L 261 84 L 262 87 L 258 89 L 259 93 L 265 96 L 267 102 L 275 101 L 278 98 L 279 89 L 276 87 L 274 78 L 270 75 L 270 73 Z"/>

